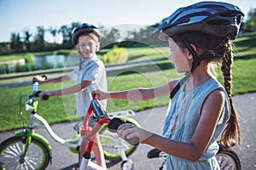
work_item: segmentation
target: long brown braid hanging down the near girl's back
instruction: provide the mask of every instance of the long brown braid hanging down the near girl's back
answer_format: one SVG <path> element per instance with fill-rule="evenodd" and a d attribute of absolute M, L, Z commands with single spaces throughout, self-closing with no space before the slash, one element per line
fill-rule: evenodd
<path fill-rule="evenodd" d="M 227 122 L 227 126 L 224 129 L 224 132 L 221 135 L 220 144 L 223 144 L 224 147 L 230 148 L 236 142 L 239 146 L 241 145 L 241 134 L 239 129 L 238 117 L 236 114 L 236 109 L 233 105 L 231 99 L 231 87 L 232 87 L 232 72 L 231 65 L 233 64 L 233 53 L 232 45 L 230 41 L 225 41 L 223 43 L 223 49 L 225 48 L 226 53 L 222 59 L 221 71 L 223 72 L 224 77 L 224 88 L 230 99 L 231 106 L 231 115 L 230 120 Z"/>

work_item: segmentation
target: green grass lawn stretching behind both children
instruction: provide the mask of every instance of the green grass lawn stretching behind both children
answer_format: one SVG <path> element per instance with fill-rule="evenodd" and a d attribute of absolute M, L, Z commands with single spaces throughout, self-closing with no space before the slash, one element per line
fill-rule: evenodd
<path fill-rule="evenodd" d="M 235 63 L 233 65 L 233 90 L 232 94 L 244 94 L 256 91 L 256 34 L 251 34 L 245 37 L 237 38 L 236 49 L 238 52 L 235 54 Z M 169 48 L 129 48 L 130 57 L 129 62 L 140 61 L 143 59 L 165 59 L 170 54 Z M 219 71 L 218 71 L 219 72 Z M 38 72 L 40 75 L 41 72 Z M 29 73 L 32 74 L 32 73 Z M 61 73 L 54 73 L 49 77 L 56 76 Z M 21 78 L 13 78 L 11 80 L 3 79 L 0 83 L 8 83 L 10 81 L 27 81 L 31 80 L 32 75 L 27 75 Z M 20 76 L 20 75 L 19 75 Z M 166 83 L 173 78 L 180 77 L 173 69 L 169 60 L 161 60 L 158 62 L 152 62 L 149 65 L 132 67 L 130 69 L 121 69 L 118 71 L 108 71 L 108 89 L 110 91 L 124 90 L 129 88 L 149 88 L 159 86 Z M 0 77 L 1 78 L 1 77 Z M 3 78 L 3 77 L 2 77 Z M 8 77 L 5 77 L 8 78 Z M 219 81 L 222 82 L 220 76 Z M 59 89 L 62 86 L 70 86 L 71 84 L 45 84 L 40 86 L 41 90 L 54 90 Z M 20 86 L 15 88 L 3 88 L 0 89 L 0 132 L 9 129 L 19 128 L 22 126 L 20 121 L 19 111 L 19 98 L 23 94 L 31 94 L 32 85 Z M 21 107 L 24 107 L 22 100 Z M 50 123 L 65 122 L 73 119 L 75 111 L 74 95 L 64 97 L 50 98 L 48 101 L 39 101 L 40 105 L 38 113 L 45 117 Z M 140 111 L 148 108 L 152 108 L 160 105 L 167 105 L 168 98 L 150 99 L 147 101 L 127 101 L 123 99 L 109 99 L 108 100 L 108 112 L 121 111 L 132 109 L 134 111 Z M 23 115 L 26 120 L 29 118 L 29 112 L 24 111 Z M 26 122 L 27 123 L 27 122 Z"/>

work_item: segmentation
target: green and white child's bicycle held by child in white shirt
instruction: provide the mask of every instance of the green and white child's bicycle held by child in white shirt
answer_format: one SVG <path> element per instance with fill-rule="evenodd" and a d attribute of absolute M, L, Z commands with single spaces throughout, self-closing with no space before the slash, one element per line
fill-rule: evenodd
<path fill-rule="evenodd" d="M 5 139 L 0 144 L 0 170 L 6 169 L 45 169 L 48 167 L 52 159 L 52 149 L 49 141 L 44 136 L 36 133 L 35 127 L 43 127 L 49 136 L 55 139 L 57 143 L 67 146 L 67 148 L 79 154 L 79 145 L 81 135 L 79 134 L 79 125 L 75 126 L 77 133 L 70 139 L 62 139 L 49 126 L 49 123 L 43 116 L 39 116 L 38 111 L 38 82 L 33 83 L 33 94 L 20 97 L 20 113 L 22 113 L 21 99 L 27 97 L 26 111 L 31 111 L 28 127 L 16 131 L 13 137 Z M 22 115 L 22 114 L 21 114 Z M 130 122 L 139 126 L 131 117 L 134 116 L 133 111 L 119 111 L 109 113 L 110 117 L 119 117 L 124 122 Z M 127 161 L 136 149 L 137 144 L 132 145 L 123 139 L 119 139 L 117 133 L 108 130 L 108 124 L 103 124 L 99 130 L 100 140 L 102 143 L 104 156 L 109 161 Z"/>

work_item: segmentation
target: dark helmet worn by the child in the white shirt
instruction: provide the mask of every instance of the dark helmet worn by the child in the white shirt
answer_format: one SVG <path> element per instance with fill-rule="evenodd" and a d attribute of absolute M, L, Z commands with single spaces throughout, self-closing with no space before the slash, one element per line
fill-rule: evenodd
<path fill-rule="evenodd" d="M 93 33 L 96 35 L 96 37 L 99 38 L 99 41 L 101 41 L 101 37 L 102 37 L 101 31 L 99 31 L 99 29 L 96 26 L 84 23 L 73 28 L 73 31 L 72 31 L 73 45 L 77 44 L 79 35 L 84 33 Z"/>

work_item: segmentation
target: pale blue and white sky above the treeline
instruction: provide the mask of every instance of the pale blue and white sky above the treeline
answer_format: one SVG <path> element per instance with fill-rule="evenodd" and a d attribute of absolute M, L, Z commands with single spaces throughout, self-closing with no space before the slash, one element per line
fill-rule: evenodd
<path fill-rule="evenodd" d="M 213 0 L 215 1 L 215 0 Z M 86 22 L 105 28 L 134 30 L 154 25 L 177 8 L 199 0 L 0 0 L 0 42 L 9 42 L 12 32 L 71 26 Z M 236 4 L 247 15 L 254 0 L 224 0 Z M 247 18 L 245 17 L 245 20 Z M 47 35 L 46 35 L 47 36 Z M 46 37 L 50 42 L 50 36 Z"/>

